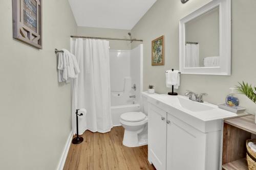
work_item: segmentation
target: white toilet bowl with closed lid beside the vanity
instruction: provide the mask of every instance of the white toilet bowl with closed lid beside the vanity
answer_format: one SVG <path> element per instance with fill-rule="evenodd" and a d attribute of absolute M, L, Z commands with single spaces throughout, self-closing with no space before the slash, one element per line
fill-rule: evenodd
<path fill-rule="evenodd" d="M 123 145 L 139 147 L 147 144 L 147 115 L 142 112 L 127 112 L 120 116 L 124 128 Z"/>

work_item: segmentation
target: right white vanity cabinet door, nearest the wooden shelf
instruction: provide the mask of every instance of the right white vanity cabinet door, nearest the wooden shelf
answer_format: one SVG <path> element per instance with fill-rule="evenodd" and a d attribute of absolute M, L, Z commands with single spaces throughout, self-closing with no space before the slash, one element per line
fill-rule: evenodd
<path fill-rule="evenodd" d="M 205 170 L 206 134 L 167 115 L 168 170 Z"/>

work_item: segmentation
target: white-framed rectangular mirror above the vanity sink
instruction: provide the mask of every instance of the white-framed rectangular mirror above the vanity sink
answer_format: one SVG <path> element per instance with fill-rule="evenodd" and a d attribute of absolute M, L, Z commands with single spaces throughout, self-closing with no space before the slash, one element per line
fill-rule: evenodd
<path fill-rule="evenodd" d="M 231 0 L 215 0 L 180 20 L 182 74 L 231 75 Z"/>

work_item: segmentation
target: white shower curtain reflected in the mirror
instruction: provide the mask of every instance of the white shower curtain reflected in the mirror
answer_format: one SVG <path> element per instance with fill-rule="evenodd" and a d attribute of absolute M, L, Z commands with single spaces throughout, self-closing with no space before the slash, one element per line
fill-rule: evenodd
<path fill-rule="evenodd" d="M 199 45 L 186 44 L 185 67 L 199 67 Z"/>

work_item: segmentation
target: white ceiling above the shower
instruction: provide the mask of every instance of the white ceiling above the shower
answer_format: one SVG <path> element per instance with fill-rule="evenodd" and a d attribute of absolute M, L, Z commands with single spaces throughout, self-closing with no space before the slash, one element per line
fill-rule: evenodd
<path fill-rule="evenodd" d="M 69 0 L 78 26 L 131 30 L 157 0 Z"/>

